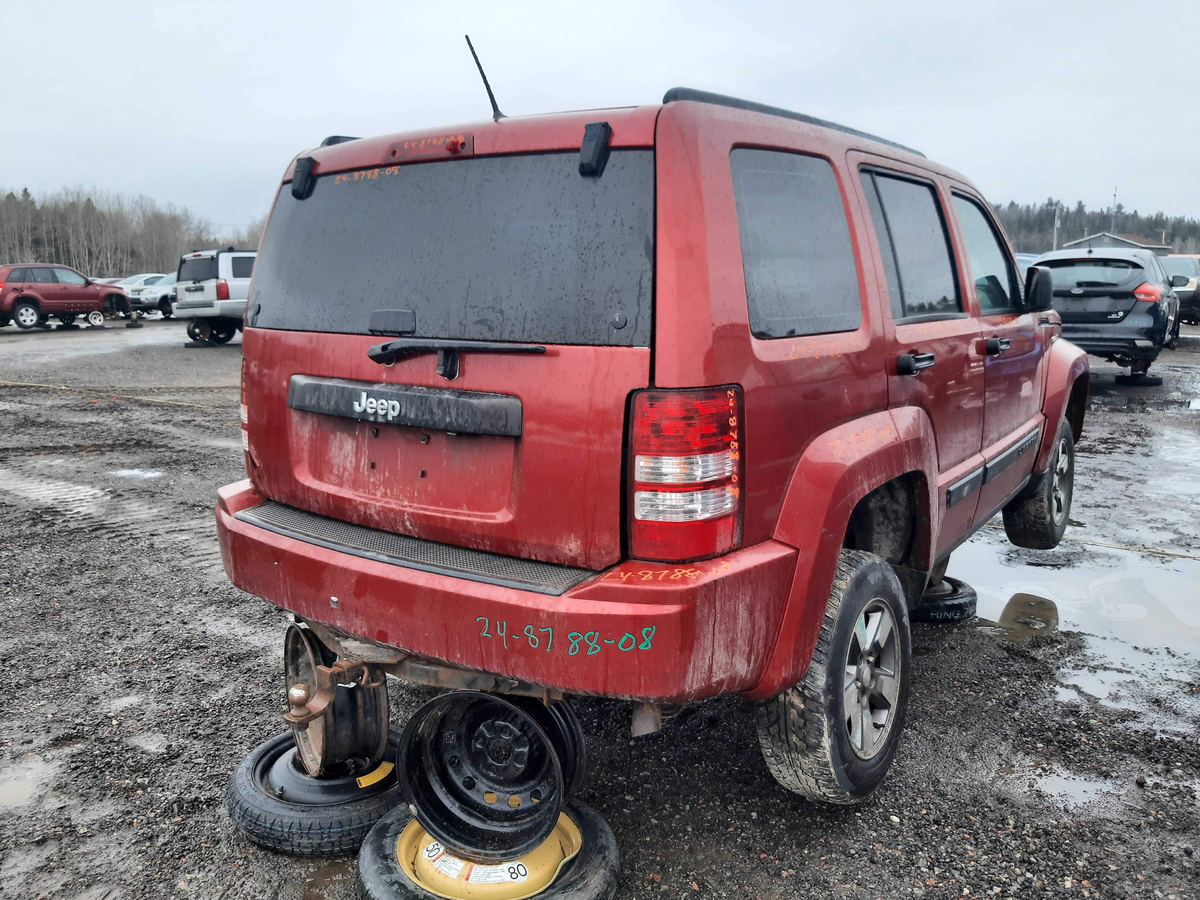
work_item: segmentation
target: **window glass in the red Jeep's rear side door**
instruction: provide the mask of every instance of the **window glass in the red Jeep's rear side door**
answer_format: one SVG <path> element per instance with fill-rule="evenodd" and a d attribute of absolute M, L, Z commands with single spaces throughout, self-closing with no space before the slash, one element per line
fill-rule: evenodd
<path fill-rule="evenodd" d="M 888 274 L 892 316 L 961 313 L 950 239 L 932 186 L 871 170 L 864 170 L 862 180 Z"/>

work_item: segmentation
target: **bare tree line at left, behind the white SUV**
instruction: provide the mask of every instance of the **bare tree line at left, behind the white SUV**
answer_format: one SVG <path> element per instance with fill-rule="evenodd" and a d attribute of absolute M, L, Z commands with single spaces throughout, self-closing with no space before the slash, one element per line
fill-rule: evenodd
<path fill-rule="evenodd" d="M 266 224 L 263 216 L 217 234 L 186 208 L 80 187 L 0 193 L 0 264 L 62 263 L 94 278 L 173 272 L 181 254 L 202 247 L 256 248 Z"/>

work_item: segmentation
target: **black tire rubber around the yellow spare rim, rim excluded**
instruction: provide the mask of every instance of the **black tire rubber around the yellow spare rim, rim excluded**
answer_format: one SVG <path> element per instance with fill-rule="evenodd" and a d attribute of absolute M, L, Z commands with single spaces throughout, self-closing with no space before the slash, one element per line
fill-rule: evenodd
<path fill-rule="evenodd" d="M 617 894 L 620 860 L 617 838 L 599 812 L 571 800 L 566 814 L 578 826 L 583 846 L 559 876 L 536 894 L 538 900 L 612 900 Z M 407 806 L 397 806 L 362 842 L 359 851 L 359 900 L 439 900 L 415 884 L 396 859 L 396 842 L 413 818 Z"/>

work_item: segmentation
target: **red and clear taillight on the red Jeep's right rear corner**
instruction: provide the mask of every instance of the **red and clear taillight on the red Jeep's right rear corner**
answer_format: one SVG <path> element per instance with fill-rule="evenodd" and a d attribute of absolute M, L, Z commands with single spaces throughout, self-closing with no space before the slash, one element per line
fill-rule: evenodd
<path fill-rule="evenodd" d="M 683 563 L 742 541 L 742 389 L 634 395 L 629 552 Z"/>

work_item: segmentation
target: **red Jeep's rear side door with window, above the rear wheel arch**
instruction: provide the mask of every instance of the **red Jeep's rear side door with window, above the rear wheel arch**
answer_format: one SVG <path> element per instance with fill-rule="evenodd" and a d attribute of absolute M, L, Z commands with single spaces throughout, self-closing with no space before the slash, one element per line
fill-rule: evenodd
<path fill-rule="evenodd" d="M 937 443 L 938 553 L 974 521 L 982 478 L 979 322 L 959 288 L 944 198 L 919 169 L 862 154 L 859 182 L 892 312 L 888 404 L 925 410 Z"/>

